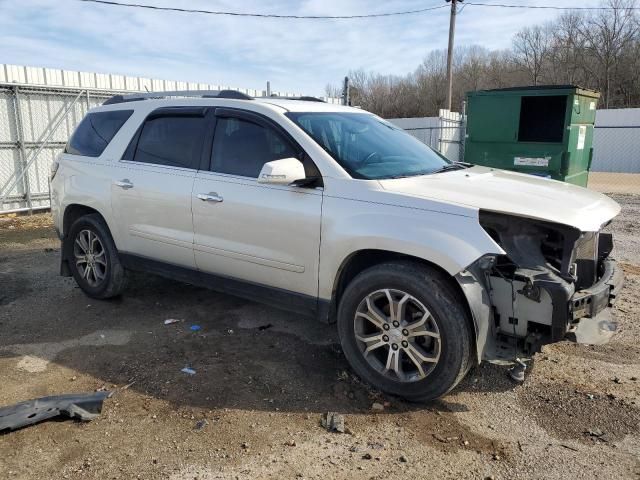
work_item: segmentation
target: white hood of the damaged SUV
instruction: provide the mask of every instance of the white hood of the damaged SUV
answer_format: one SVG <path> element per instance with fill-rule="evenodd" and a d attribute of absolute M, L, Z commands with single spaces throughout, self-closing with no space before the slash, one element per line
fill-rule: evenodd
<path fill-rule="evenodd" d="M 433 175 L 381 180 L 389 192 L 597 231 L 620 212 L 600 193 L 546 178 L 471 167 Z"/>

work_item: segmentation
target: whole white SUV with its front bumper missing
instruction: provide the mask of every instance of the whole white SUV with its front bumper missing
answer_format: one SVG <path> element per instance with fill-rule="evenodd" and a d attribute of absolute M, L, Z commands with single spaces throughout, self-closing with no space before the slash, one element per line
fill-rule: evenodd
<path fill-rule="evenodd" d="M 52 176 L 61 273 L 87 295 L 143 270 L 337 322 L 354 370 L 414 400 L 595 321 L 622 283 L 608 197 L 309 98 L 116 96 Z"/>

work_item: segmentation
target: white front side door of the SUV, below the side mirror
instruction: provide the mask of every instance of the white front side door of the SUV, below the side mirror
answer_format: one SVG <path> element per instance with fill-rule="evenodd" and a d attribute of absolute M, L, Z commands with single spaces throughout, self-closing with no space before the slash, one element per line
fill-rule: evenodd
<path fill-rule="evenodd" d="M 322 188 L 257 182 L 265 163 L 301 158 L 301 148 L 258 114 L 218 108 L 215 116 L 210 168 L 197 173 L 193 188 L 196 265 L 315 302 Z"/>

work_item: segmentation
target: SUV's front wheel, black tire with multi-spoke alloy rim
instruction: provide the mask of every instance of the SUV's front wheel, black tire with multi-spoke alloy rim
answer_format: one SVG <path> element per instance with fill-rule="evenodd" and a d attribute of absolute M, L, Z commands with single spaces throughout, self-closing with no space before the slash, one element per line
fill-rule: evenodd
<path fill-rule="evenodd" d="M 473 333 L 450 282 L 434 268 L 394 262 L 371 267 L 349 283 L 338 307 L 338 333 L 347 361 L 362 379 L 410 401 L 442 397 L 462 380 L 472 365 Z M 395 317 L 388 304 L 398 312 Z M 387 330 L 376 325 L 381 316 Z"/>

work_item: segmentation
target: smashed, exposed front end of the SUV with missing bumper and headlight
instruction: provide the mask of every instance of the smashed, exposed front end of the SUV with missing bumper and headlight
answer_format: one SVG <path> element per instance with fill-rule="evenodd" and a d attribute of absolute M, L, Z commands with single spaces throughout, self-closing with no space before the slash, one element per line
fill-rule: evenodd
<path fill-rule="evenodd" d="M 615 301 L 623 275 L 609 257 L 611 234 L 486 211 L 479 220 L 505 252 L 481 258 L 457 277 L 471 304 L 479 357 L 532 355 Z M 472 293 L 474 282 L 482 294 Z"/>

